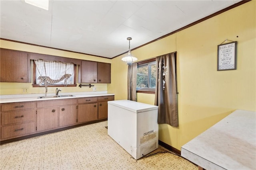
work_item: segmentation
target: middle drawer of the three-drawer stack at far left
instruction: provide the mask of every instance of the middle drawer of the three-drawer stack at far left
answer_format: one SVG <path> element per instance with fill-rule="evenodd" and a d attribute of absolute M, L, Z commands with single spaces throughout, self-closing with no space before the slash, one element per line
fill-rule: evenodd
<path fill-rule="evenodd" d="M 8 125 L 12 123 L 22 123 L 25 121 L 34 121 L 35 113 L 36 111 L 34 109 L 2 112 L 1 125 Z"/>

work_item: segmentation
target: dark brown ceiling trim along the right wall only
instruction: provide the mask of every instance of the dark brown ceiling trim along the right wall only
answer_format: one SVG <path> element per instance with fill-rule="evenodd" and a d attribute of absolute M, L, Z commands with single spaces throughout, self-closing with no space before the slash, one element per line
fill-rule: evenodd
<path fill-rule="evenodd" d="M 211 15 L 209 15 L 209 16 L 206 16 L 206 17 L 204 17 L 204 18 L 202 18 L 202 19 L 200 19 L 200 20 L 194 21 L 194 22 L 192 22 L 192 23 L 190 23 L 190 24 L 188 24 L 188 25 L 186 25 L 186 26 L 184 26 L 184 27 L 182 27 L 182 28 L 180 28 L 180 29 L 177 29 L 177 30 L 175 30 L 175 31 L 172 31 L 171 33 L 168 33 L 168 34 L 166 34 L 166 35 L 163 35 L 162 37 L 159 37 L 159 38 L 157 38 L 157 39 L 154 39 L 154 40 L 152 40 L 152 41 L 149 41 L 148 43 L 145 43 L 145 44 L 140 45 L 140 46 L 138 46 L 138 47 L 136 47 L 136 48 L 134 48 L 134 49 L 131 49 L 131 51 L 136 50 L 136 49 L 139 49 L 140 47 L 143 47 L 143 46 L 148 45 L 148 44 L 150 44 L 150 43 L 153 43 L 153 42 L 155 42 L 155 41 L 158 41 L 158 40 L 160 40 L 160 39 L 162 39 L 162 38 L 164 38 L 164 37 L 168 37 L 169 35 L 172 35 L 172 34 L 174 34 L 174 33 L 177 33 L 177 32 L 179 32 L 179 31 L 182 31 L 183 29 L 186 29 L 186 28 L 188 28 L 188 27 L 191 27 L 191 26 L 193 26 L 193 25 L 196 25 L 197 23 L 200 23 L 200 22 L 202 22 L 202 21 L 208 20 L 209 18 L 212 18 L 212 17 L 214 17 L 214 16 L 217 16 L 217 15 L 223 13 L 223 12 L 226 12 L 226 11 L 228 11 L 228 10 L 231 10 L 231 9 L 233 9 L 233 8 L 236 8 L 237 6 L 240 6 L 240 5 L 245 4 L 246 2 L 250 2 L 250 1 L 251 1 L 251 0 L 242 0 L 242 1 L 240 1 L 240 2 L 238 2 L 238 3 L 236 3 L 236 4 L 234 4 L 234 5 L 228 6 L 227 8 L 224 8 L 224 9 L 218 11 L 218 12 L 215 12 L 214 14 L 211 14 Z M 122 54 L 120 54 L 120 55 L 124 55 L 124 54 L 126 54 L 126 53 L 128 53 L 128 51 L 126 51 L 126 52 L 124 52 L 124 53 L 122 53 Z M 116 57 L 119 57 L 120 55 L 117 55 L 117 56 L 113 57 L 112 59 L 114 59 L 114 58 L 116 58 Z"/>

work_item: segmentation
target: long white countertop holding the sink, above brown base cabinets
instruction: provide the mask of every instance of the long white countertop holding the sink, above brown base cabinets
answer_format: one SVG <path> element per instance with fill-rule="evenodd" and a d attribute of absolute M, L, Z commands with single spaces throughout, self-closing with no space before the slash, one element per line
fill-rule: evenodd
<path fill-rule="evenodd" d="M 47 94 L 47 96 L 54 96 L 55 94 Z M 0 95 L 0 103 L 13 103 L 13 102 L 34 102 L 42 100 L 60 100 L 60 99 L 72 99 L 72 98 L 86 98 L 97 96 L 112 96 L 114 94 L 107 93 L 106 91 L 100 92 L 70 92 L 60 93 L 59 95 L 74 95 L 59 98 L 39 98 L 39 96 L 45 96 L 45 94 L 17 94 L 17 95 Z"/>

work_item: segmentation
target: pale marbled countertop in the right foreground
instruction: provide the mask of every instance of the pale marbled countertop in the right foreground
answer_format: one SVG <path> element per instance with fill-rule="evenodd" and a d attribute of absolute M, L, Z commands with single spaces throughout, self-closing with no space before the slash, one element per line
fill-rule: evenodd
<path fill-rule="evenodd" d="M 207 170 L 255 170 L 256 112 L 234 111 L 183 145 L 181 155 Z"/>

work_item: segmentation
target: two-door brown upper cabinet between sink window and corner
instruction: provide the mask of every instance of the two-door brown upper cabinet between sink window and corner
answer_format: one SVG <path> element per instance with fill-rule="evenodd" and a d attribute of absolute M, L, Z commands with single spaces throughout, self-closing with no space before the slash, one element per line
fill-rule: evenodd
<path fill-rule="evenodd" d="M 82 61 L 82 83 L 110 83 L 111 64 L 95 61 Z"/>

